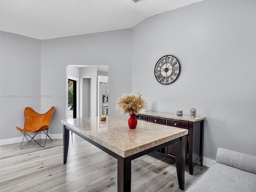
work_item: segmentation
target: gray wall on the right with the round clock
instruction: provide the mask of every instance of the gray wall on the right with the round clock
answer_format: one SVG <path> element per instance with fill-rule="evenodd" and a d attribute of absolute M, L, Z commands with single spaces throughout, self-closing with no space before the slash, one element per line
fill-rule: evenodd
<path fill-rule="evenodd" d="M 256 155 L 256 1 L 203 1 L 133 28 L 132 92 L 148 110 L 206 116 L 204 156 L 218 147 Z M 173 54 L 178 80 L 158 83 L 154 67 Z"/>

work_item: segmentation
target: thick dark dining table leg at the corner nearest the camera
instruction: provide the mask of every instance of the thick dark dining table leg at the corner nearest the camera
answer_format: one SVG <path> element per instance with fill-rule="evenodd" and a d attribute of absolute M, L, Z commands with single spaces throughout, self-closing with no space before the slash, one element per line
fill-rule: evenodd
<path fill-rule="evenodd" d="M 132 160 L 129 157 L 117 157 L 117 191 L 131 192 Z"/>

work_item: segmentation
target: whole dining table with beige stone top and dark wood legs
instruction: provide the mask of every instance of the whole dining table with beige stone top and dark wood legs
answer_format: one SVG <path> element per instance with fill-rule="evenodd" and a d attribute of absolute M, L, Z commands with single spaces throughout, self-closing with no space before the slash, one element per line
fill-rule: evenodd
<path fill-rule="evenodd" d="M 138 121 L 128 127 L 128 118 L 108 115 L 61 120 L 63 124 L 63 163 L 67 163 L 69 135 L 72 131 L 117 159 L 118 192 L 131 191 L 131 161 L 176 143 L 176 170 L 180 189 L 184 189 L 185 135 L 187 129 Z"/>

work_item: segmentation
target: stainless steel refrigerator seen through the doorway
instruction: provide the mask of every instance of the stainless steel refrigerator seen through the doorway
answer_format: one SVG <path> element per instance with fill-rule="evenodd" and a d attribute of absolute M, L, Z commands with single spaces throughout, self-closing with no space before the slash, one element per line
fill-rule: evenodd
<path fill-rule="evenodd" d="M 108 83 L 100 83 L 100 116 L 108 115 Z"/>

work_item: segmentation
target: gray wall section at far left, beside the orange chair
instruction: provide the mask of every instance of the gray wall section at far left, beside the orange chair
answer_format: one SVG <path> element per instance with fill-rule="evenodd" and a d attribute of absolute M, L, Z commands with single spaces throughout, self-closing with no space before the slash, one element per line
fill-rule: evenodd
<path fill-rule="evenodd" d="M 24 128 L 26 107 L 41 112 L 40 97 L 23 96 L 41 92 L 41 41 L 1 31 L 0 48 L 0 94 L 18 96 L 0 97 L 0 140 L 3 140 L 22 136 L 15 126 Z"/>

